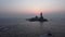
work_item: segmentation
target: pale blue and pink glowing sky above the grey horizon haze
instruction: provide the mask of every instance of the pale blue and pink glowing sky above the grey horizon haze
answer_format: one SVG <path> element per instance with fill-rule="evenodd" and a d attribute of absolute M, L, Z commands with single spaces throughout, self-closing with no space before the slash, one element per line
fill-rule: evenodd
<path fill-rule="evenodd" d="M 65 0 L 0 0 L 0 14 L 65 12 Z"/>

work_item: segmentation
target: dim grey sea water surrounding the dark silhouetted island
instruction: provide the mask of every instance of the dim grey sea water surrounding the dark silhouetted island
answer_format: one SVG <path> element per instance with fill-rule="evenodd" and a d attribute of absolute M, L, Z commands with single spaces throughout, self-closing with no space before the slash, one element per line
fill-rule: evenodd
<path fill-rule="evenodd" d="M 0 37 L 40 37 L 48 33 L 52 37 L 65 37 L 65 18 L 52 18 L 43 23 L 25 18 L 0 18 Z"/>

